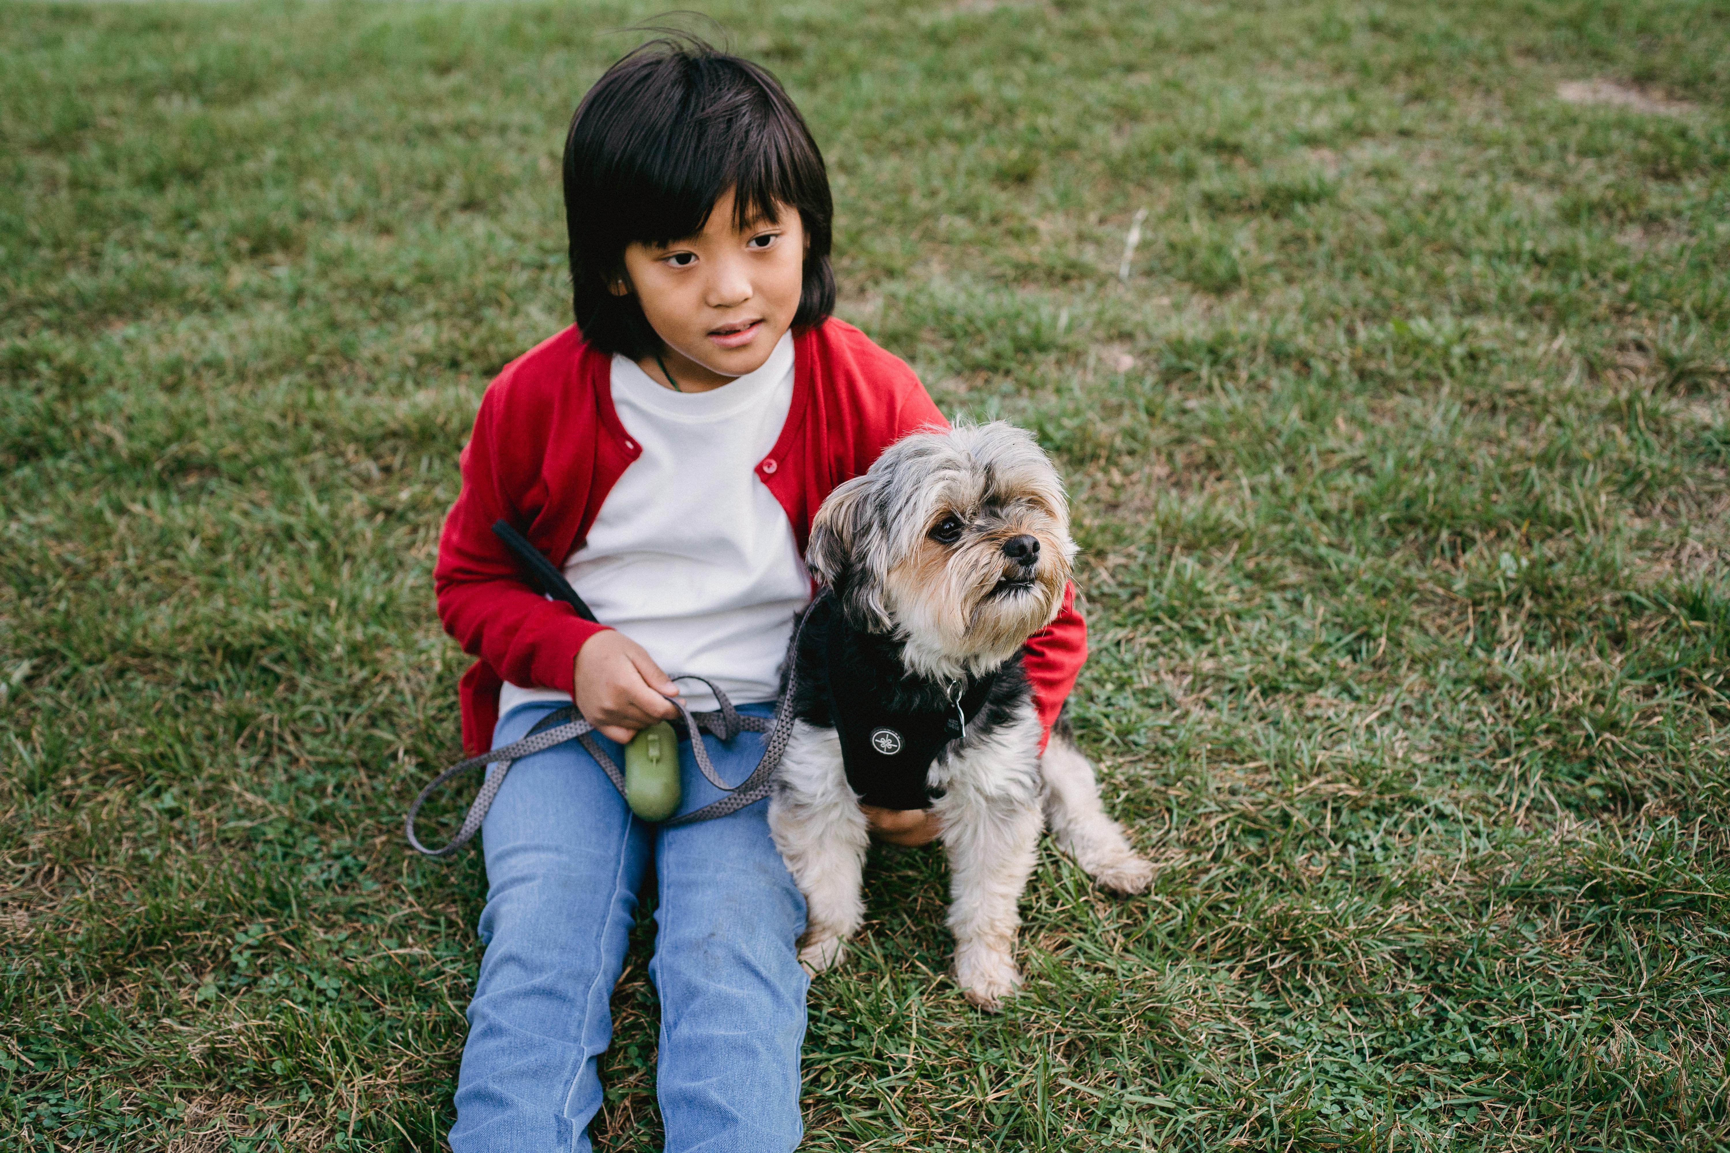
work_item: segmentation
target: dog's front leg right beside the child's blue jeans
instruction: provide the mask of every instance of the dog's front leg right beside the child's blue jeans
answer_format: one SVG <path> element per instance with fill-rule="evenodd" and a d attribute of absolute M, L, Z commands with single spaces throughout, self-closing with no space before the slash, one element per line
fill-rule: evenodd
<path fill-rule="evenodd" d="M 768 830 L 804 894 L 799 963 L 810 973 L 841 963 L 865 920 L 863 871 L 870 833 L 841 768 L 834 729 L 803 721 L 782 757 L 768 799 Z"/>

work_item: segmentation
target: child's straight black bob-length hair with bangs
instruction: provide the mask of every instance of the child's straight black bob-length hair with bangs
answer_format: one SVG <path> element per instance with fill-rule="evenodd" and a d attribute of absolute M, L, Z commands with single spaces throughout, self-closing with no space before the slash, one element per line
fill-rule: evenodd
<path fill-rule="evenodd" d="M 836 306 L 829 171 L 780 83 L 695 36 L 650 40 L 595 81 L 564 142 L 571 306 L 590 344 L 661 351 L 637 296 L 611 292 L 625 249 L 697 235 L 728 188 L 740 228 L 798 209 L 808 247 L 792 325 L 822 323 Z"/>

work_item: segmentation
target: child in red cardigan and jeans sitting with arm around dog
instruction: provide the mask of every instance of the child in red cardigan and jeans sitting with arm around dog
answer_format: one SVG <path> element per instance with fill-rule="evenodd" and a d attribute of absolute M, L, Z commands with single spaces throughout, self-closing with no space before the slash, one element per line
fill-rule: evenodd
<path fill-rule="evenodd" d="M 571 121 L 564 199 L 576 327 L 486 391 L 439 543 L 439 615 L 479 657 L 462 679 L 471 752 L 573 698 L 626 742 L 676 714 L 668 672 L 770 716 L 811 596 L 811 515 L 896 437 L 943 424 L 907 365 L 829 316 L 827 173 L 761 67 L 701 41 L 626 55 Z M 535 593 L 491 532 L 498 519 L 606 626 Z M 1028 645 L 1047 728 L 1085 655 L 1071 589 Z M 706 690 L 689 704 L 714 707 Z M 734 783 L 763 750 L 759 733 L 701 740 Z M 682 812 L 721 795 L 683 747 L 680 781 Z M 486 954 L 453 1150 L 590 1148 L 607 1001 L 650 863 L 666 1148 L 799 1143 L 804 901 L 766 807 L 645 825 L 581 745 L 517 761 L 481 830 Z M 926 812 L 872 816 L 903 844 L 936 833 Z"/>

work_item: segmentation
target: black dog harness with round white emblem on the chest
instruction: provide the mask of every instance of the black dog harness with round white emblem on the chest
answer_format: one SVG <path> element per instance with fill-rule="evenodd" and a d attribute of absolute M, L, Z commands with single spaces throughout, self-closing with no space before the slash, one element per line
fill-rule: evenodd
<path fill-rule="evenodd" d="M 931 788 L 926 776 L 938 754 L 967 735 L 967 726 L 984 709 L 998 674 L 990 672 L 971 681 L 953 681 L 948 697 L 938 707 L 896 707 L 894 697 L 907 693 L 881 693 L 877 686 L 862 686 L 848 678 L 849 648 L 858 636 L 846 627 L 834 596 L 823 596 L 811 605 L 810 615 L 820 615 L 823 629 L 823 679 L 829 695 L 829 719 L 841 738 L 841 764 L 848 785 L 862 804 L 882 809 L 929 809 L 941 788 Z M 929 693 L 920 693 L 929 697 Z"/>

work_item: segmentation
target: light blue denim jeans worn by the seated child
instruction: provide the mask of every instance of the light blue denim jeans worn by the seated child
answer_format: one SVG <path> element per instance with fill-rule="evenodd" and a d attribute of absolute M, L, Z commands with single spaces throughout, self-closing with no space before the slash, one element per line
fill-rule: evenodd
<path fill-rule="evenodd" d="M 555 704 L 502 717 L 493 747 L 524 736 Z M 770 716 L 770 705 L 740 712 Z M 597 735 L 599 736 L 599 735 Z M 761 733 L 704 736 L 725 781 L 756 768 Z M 614 759 L 619 747 L 606 738 Z M 723 793 L 680 745 L 689 812 Z M 661 996 L 657 1094 L 668 1153 L 792 1150 L 808 978 L 794 942 L 804 897 L 768 837 L 768 802 L 659 828 L 631 816 L 576 742 L 512 766 L 481 826 L 486 909 L 481 980 L 457 1077 L 455 1153 L 576 1150 L 600 1108 L 595 1060 L 625 965 L 637 890 L 659 880 L 654 959 Z"/>

